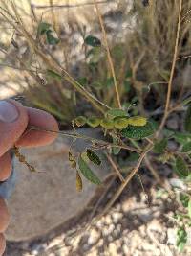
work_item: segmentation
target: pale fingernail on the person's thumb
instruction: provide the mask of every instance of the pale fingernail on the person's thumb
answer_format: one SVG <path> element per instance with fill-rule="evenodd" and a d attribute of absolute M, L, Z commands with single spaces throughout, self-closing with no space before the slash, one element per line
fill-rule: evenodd
<path fill-rule="evenodd" d="M 7 101 L 0 101 L 0 121 L 11 123 L 19 116 L 16 107 Z"/>

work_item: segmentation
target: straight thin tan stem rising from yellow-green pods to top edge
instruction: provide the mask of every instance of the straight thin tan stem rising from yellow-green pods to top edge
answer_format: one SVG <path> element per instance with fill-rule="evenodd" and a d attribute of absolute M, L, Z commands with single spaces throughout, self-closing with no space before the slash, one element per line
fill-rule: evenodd
<path fill-rule="evenodd" d="M 94 2 L 95 2 L 95 6 L 96 6 L 96 13 L 97 13 L 99 23 L 100 23 L 100 26 L 101 26 L 101 30 L 102 30 L 102 35 L 103 35 L 106 51 L 107 51 L 108 62 L 109 62 L 111 73 L 112 73 L 113 80 L 114 80 L 114 85 L 115 85 L 115 90 L 116 90 L 116 95 L 117 95 L 117 105 L 118 105 L 119 108 L 121 108 L 120 96 L 119 96 L 118 85 L 117 85 L 117 77 L 116 77 L 116 73 L 115 73 L 115 69 L 114 69 L 114 63 L 113 63 L 111 53 L 110 53 L 110 48 L 109 48 L 109 45 L 108 45 L 107 35 L 106 35 L 105 27 L 104 27 L 104 24 L 103 24 L 103 19 L 101 17 L 101 13 L 99 11 L 98 4 L 97 4 L 96 0 L 94 0 Z"/>

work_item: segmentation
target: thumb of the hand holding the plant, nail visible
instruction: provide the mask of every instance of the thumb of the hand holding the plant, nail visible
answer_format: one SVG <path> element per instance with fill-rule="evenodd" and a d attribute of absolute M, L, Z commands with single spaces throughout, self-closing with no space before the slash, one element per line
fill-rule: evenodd
<path fill-rule="evenodd" d="M 14 145 L 28 125 L 27 110 L 13 100 L 0 101 L 0 156 Z"/>

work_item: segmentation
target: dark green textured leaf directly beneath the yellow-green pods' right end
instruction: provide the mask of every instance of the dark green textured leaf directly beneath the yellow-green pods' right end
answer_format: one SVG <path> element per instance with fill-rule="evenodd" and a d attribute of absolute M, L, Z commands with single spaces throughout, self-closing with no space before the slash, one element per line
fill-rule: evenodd
<path fill-rule="evenodd" d="M 140 140 L 151 136 L 154 132 L 155 125 L 153 122 L 147 122 L 147 124 L 143 127 L 128 126 L 128 128 L 121 131 L 121 134 L 125 138 Z"/>

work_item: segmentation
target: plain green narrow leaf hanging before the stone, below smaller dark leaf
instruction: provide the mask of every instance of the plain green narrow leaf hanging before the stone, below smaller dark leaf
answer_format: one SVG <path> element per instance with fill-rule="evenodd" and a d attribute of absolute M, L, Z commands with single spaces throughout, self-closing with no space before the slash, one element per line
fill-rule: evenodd
<path fill-rule="evenodd" d="M 96 185 L 101 184 L 100 179 L 95 175 L 95 173 L 93 173 L 93 171 L 90 169 L 87 163 L 82 159 L 81 155 L 78 158 L 78 165 L 81 174 L 84 175 L 89 181 Z"/>

